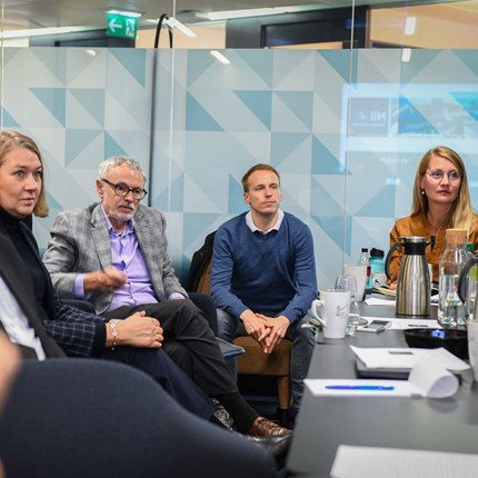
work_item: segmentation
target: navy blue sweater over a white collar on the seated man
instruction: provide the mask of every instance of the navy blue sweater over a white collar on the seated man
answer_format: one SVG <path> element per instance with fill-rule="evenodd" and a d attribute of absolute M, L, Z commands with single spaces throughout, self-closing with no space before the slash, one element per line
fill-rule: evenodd
<path fill-rule="evenodd" d="M 252 232 L 246 213 L 216 232 L 211 295 L 217 306 L 239 317 L 253 312 L 303 317 L 317 298 L 316 261 L 310 229 L 286 212 L 279 230 Z"/>

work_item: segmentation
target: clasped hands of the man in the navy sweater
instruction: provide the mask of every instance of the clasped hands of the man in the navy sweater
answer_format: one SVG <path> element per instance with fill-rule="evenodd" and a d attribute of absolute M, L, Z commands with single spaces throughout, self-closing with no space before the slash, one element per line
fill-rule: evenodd
<path fill-rule="evenodd" d="M 265 353 L 271 353 L 275 347 L 286 337 L 290 321 L 286 316 L 267 317 L 246 310 L 241 313 L 246 331 L 262 347 Z"/>

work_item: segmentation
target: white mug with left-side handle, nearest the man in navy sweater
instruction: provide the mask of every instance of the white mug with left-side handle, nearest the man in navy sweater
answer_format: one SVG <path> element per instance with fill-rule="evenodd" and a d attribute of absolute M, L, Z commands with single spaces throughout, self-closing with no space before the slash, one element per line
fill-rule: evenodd
<path fill-rule="evenodd" d="M 350 291 L 325 289 L 320 291 L 320 299 L 311 306 L 313 317 L 323 326 L 323 337 L 342 339 L 346 336 L 350 312 Z M 317 312 L 320 309 L 320 315 Z"/>

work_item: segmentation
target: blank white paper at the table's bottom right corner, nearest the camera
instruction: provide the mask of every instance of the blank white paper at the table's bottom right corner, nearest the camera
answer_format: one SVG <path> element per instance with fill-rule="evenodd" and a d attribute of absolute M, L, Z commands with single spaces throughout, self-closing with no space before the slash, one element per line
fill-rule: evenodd
<path fill-rule="evenodd" d="M 478 455 L 341 445 L 332 478 L 476 478 Z"/>

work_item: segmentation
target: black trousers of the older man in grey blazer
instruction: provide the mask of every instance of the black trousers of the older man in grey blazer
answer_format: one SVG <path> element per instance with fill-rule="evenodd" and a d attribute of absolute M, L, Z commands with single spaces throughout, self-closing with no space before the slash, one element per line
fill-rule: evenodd
<path fill-rule="evenodd" d="M 123 306 L 108 312 L 107 317 L 126 319 L 141 310 L 161 323 L 166 348 L 171 339 L 186 347 L 191 360 L 190 377 L 209 397 L 238 391 L 222 358 L 215 333 L 203 312 L 191 300 Z"/>

